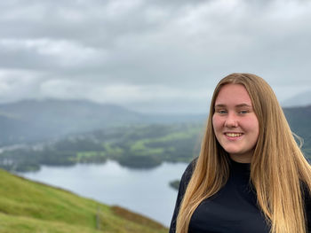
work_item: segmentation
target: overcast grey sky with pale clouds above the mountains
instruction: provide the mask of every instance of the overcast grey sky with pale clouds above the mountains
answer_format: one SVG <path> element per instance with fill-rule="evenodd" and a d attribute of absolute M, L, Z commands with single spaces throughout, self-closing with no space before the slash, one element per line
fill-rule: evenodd
<path fill-rule="evenodd" d="M 0 102 L 205 113 L 233 72 L 258 74 L 284 101 L 311 90 L 310 21 L 307 0 L 2 1 Z"/>

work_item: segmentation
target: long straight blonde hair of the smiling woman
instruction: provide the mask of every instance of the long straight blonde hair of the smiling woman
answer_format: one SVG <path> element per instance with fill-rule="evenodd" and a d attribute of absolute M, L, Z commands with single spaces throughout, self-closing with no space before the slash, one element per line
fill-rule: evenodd
<path fill-rule="evenodd" d="M 215 137 L 212 115 L 219 90 L 228 83 L 245 87 L 259 120 L 259 138 L 251 159 L 251 183 L 270 232 L 305 233 L 307 226 L 301 185 L 303 183 L 310 192 L 311 167 L 292 136 L 274 91 L 255 74 L 229 74 L 214 90 L 200 156 L 179 208 L 176 233 L 187 233 L 195 208 L 227 183 L 228 154 Z"/>

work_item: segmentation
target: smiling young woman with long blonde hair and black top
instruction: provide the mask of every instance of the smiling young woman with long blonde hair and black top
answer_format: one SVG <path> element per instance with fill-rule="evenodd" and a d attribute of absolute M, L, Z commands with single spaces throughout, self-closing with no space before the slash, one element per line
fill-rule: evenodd
<path fill-rule="evenodd" d="M 182 176 L 170 233 L 311 232 L 311 167 L 270 86 L 229 74 L 200 156 Z"/>

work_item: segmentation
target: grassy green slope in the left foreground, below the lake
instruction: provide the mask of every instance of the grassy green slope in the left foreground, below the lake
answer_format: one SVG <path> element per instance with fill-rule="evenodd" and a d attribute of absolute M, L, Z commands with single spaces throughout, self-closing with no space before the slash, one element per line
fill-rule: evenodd
<path fill-rule="evenodd" d="M 156 221 L 0 169 L 0 233 L 156 233 Z M 104 195 L 104 193 L 103 193 Z"/>

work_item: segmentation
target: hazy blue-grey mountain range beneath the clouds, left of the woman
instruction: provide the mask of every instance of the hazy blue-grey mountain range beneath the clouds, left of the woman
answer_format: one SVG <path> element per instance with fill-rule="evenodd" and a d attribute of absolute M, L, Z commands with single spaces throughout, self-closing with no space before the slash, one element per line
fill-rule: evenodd
<path fill-rule="evenodd" d="M 0 146 L 137 123 L 203 120 L 205 115 L 142 114 L 87 100 L 23 100 L 0 105 Z"/>

